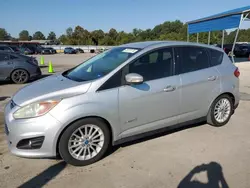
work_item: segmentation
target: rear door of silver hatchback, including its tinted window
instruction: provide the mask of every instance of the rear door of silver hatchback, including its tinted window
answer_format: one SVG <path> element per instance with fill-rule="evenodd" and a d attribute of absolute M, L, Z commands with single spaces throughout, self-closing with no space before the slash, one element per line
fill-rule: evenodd
<path fill-rule="evenodd" d="M 176 47 L 175 53 L 181 80 L 180 122 L 206 116 L 211 99 L 220 91 L 219 72 L 210 66 L 206 48 Z"/>

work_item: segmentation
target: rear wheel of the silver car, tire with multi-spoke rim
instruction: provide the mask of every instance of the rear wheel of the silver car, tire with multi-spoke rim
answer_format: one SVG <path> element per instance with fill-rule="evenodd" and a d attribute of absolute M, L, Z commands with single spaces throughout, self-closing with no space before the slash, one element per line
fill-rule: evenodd
<path fill-rule="evenodd" d="M 225 107 L 222 108 L 224 109 L 224 111 L 222 110 L 220 112 L 220 110 L 218 110 L 219 108 L 219 102 L 225 102 Z M 224 118 L 223 115 L 220 117 L 220 113 L 224 114 Z M 228 123 L 228 121 L 230 120 L 231 116 L 233 114 L 233 100 L 230 96 L 224 94 L 219 96 L 217 99 L 214 100 L 214 102 L 212 103 L 208 115 L 207 115 L 207 123 L 215 126 L 215 127 L 221 127 L 223 125 L 226 125 Z"/>

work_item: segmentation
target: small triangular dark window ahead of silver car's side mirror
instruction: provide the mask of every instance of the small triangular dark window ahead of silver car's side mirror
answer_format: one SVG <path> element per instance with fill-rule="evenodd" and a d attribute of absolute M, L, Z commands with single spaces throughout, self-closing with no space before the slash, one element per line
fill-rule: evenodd
<path fill-rule="evenodd" d="M 105 89 L 112 89 L 121 86 L 122 71 L 118 71 L 112 77 L 110 77 L 99 89 L 98 91 Z"/>

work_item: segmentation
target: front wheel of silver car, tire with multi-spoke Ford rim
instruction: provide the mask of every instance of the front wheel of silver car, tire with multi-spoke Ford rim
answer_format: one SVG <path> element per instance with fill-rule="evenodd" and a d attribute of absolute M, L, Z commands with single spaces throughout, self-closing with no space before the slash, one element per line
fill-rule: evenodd
<path fill-rule="evenodd" d="M 95 133 L 95 131 L 97 132 Z M 91 134 L 88 134 L 87 138 L 83 138 L 86 136 L 86 132 L 90 132 L 93 135 L 90 136 Z M 92 138 L 93 140 L 91 140 Z M 103 141 L 96 142 L 96 139 Z M 65 162 L 73 166 L 85 166 L 100 160 L 108 150 L 109 145 L 110 131 L 106 123 L 98 118 L 86 118 L 74 122 L 63 132 L 59 140 L 59 154 Z"/>

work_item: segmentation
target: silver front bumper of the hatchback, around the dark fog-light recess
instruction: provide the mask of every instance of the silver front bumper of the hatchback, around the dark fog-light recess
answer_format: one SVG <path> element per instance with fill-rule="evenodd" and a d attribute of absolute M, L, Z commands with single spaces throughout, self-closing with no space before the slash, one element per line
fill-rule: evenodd
<path fill-rule="evenodd" d="M 28 158 L 55 157 L 61 123 L 49 113 L 37 118 L 15 120 L 13 113 L 19 108 L 18 106 L 11 108 L 10 103 L 5 107 L 5 131 L 10 152 Z M 17 148 L 21 140 L 36 137 L 44 137 L 40 149 Z"/>

